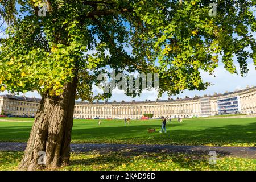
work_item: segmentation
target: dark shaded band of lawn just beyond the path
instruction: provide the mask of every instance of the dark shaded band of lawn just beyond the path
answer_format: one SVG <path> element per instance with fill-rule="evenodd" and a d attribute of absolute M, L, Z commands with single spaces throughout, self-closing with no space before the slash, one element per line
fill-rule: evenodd
<path fill-rule="evenodd" d="M 202 126 L 194 130 L 193 127 L 188 129 L 188 126 L 182 129 L 182 125 L 183 123 L 167 124 L 167 133 L 158 132 L 160 125 L 74 128 L 72 143 L 255 146 L 256 122 L 221 127 Z M 148 128 L 157 130 L 148 133 Z M 3 126 L 0 127 L 0 140 L 26 142 L 30 130 L 31 126 Z"/>

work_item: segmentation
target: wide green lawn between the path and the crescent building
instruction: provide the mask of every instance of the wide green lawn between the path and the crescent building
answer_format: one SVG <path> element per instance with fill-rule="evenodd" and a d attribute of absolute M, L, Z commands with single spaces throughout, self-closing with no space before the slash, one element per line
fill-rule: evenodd
<path fill-rule="evenodd" d="M 32 119 L 0 122 L 0 140 L 26 142 Z M 183 119 L 167 123 L 167 133 L 159 133 L 161 121 L 75 120 L 72 143 L 175 144 L 208 146 L 255 146 L 256 118 Z M 156 129 L 148 133 L 147 129 Z"/>

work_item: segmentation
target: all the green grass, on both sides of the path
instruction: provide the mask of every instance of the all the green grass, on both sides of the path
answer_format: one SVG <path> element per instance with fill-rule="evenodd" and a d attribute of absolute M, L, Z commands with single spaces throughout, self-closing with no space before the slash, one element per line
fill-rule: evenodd
<path fill-rule="evenodd" d="M 33 119 L 0 122 L 0 140 L 26 142 Z M 23 121 L 23 122 L 21 122 Z M 184 119 L 167 123 L 167 133 L 159 133 L 161 121 L 75 120 L 72 142 L 178 144 L 212 146 L 255 146 L 256 118 Z M 147 129 L 156 129 L 148 133 Z M 16 170 L 23 152 L 0 152 L 0 171 Z M 59 170 L 256 170 L 256 159 L 218 156 L 217 164 L 208 155 L 112 152 L 110 154 L 72 153 L 71 165 Z"/>

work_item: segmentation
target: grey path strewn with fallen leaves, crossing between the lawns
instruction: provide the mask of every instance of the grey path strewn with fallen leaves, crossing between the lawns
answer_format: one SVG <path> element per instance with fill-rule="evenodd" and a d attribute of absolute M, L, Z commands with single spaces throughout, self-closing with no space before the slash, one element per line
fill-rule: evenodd
<path fill-rule="evenodd" d="M 0 151 L 24 151 L 26 143 L 0 142 Z M 216 151 L 218 156 L 233 156 L 256 159 L 256 147 L 210 147 L 210 146 L 171 146 L 171 145 L 133 145 L 133 144 L 88 144 L 72 143 L 72 152 L 156 152 L 205 154 Z"/>

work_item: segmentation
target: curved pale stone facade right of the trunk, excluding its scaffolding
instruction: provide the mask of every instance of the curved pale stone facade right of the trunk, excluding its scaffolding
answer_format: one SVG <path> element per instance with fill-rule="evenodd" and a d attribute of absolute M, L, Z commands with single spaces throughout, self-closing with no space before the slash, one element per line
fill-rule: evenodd
<path fill-rule="evenodd" d="M 154 114 L 153 118 L 164 117 L 188 118 L 217 115 L 218 101 L 223 98 L 240 97 L 240 111 L 243 114 L 256 113 L 256 87 L 235 92 L 207 96 L 208 114 L 204 115 L 202 98 L 185 98 L 180 100 L 144 101 L 144 102 L 76 102 L 75 118 L 132 118 L 139 119 L 143 114 Z"/>

